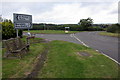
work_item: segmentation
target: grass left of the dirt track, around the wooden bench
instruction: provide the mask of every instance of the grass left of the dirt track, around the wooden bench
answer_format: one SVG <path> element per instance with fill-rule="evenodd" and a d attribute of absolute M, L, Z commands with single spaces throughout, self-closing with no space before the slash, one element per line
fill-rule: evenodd
<path fill-rule="evenodd" d="M 23 38 L 25 40 L 25 38 Z M 36 39 L 35 39 L 36 40 Z M 37 39 L 38 40 L 38 39 Z M 44 43 L 35 43 L 30 45 L 30 51 L 22 59 L 2 59 L 2 77 L 3 78 L 24 78 L 36 64 L 38 55 L 44 50 Z M 5 48 L 3 49 L 3 54 Z"/>

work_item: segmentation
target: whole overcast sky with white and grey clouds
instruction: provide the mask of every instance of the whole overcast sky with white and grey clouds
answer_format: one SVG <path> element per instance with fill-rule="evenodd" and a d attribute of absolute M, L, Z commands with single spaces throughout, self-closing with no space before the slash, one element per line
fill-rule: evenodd
<path fill-rule="evenodd" d="M 0 13 L 3 18 L 11 20 L 13 13 L 30 14 L 33 23 L 77 24 L 80 19 L 88 17 L 94 23 L 118 23 L 118 1 L 3 0 Z"/>

